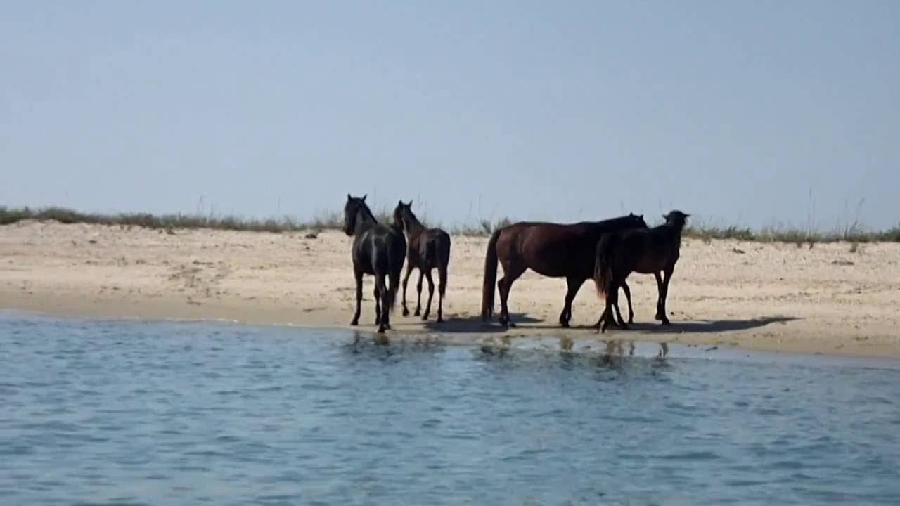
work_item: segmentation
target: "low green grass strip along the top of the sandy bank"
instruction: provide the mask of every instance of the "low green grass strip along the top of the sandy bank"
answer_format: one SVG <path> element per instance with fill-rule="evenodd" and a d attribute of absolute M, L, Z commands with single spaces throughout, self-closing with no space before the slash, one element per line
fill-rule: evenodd
<path fill-rule="evenodd" d="M 379 221 L 390 222 L 391 214 L 386 210 L 375 212 Z M 421 217 L 423 222 L 427 218 Z M 216 229 L 216 230 L 252 230 L 260 232 L 292 232 L 301 230 L 339 230 L 343 226 L 343 216 L 339 212 L 320 214 L 311 221 L 298 221 L 290 216 L 282 218 L 243 218 L 237 216 L 214 216 L 199 214 L 150 214 L 148 212 L 125 212 L 121 214 L 101 214 L 77 212 L 62 207 L 45 207 L 31 209 L 29 207 L 7 208 L 0 206 L 0 225 L 8 225 L 23 220 L 59 221 L 60 223 L 94 223 L 102 225 L 119 225 L 144 227 L 148 229 Z M 477 224 L 456 226 L 451 232 L 459 235 L 486 236 L 494 230 L 513 222 L 509 218 L 500 220 L 482 220 Z M 863 230 L 857 224 L 832 231 L 801 230 L 794 228 L 767 227 L 752 230 L 743 227 L 717 227 L 694 225 L 685 230 L 689 238 L 703 239 L 738 239 L 757 242 L 787 242 L 797 246 L 822 242 L 850 242 L 860 244 L 867 242 L 900 242 L 900 225 L 888 230 Z"/>

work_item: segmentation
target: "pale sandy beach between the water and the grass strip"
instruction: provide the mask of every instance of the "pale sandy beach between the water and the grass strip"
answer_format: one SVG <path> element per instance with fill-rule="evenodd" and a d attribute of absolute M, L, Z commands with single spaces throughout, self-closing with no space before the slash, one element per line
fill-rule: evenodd
<path fill-rule="evenodd" d="M 162 230 L 23 221 L 0 227 L 0 307 L 62 315 L 224 319 L 349 328 L 354 309 L 351 238 L 303 233 Z M 518 328 L 480 319 L 487 239 L 455 236 L 448 321 L 392 317 L 394 335 L 445 339 L 542 334 L 856 356 L 900 357 L 900 244 L 761 244 L 685 239 L 671 282 L 671 326 L 653 321 L 653 276 L 629 278 L 632 330 L 590 329 L 600 305 L 582 286 L 573 328 L 560 329 L 565 281 L 527 272 L 512 288 Z M 502 271 L 501 271 L 502 272 Z M 437 276 L 436 276 L 437 278 Z M 407 297 L 415 308 L 418 273 Z M 360 329 L 374 330 L 365 279 Z M 427 297 L 427 285 L 423 304 Z M 625 299 L 622 297 L 623 309 Z M 499 304 L 499 299 L 498 299 Z"/>

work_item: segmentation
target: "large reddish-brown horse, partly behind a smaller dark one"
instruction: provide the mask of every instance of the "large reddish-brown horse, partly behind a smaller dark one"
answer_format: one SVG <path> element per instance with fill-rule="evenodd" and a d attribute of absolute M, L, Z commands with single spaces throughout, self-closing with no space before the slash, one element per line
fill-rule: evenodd
<path fill-rule="evenodd" d="M 594 275 L 597 241 L 606 232 L 627 229 L 646 229 L 644 215 L 629 213 L 604 221 L 578 223 L 550 223 L 520 221 L 495 230 L 488 241 L 484 257 L 484 281 L 482 285 L 482 321 L 491 319 L 494 311 L 494 280 L 497 279 L 497 263 L 503 266 L 503 277 L 497 282 L 500 292 L 500 323 L 515 327 L 509 320 L 509 289 L 527 269 L 548 277 L 564 277 L 568 290 L 559 322 L 569 327 L 572 319 L 572 300 L 581 285 Z M 631 307 L 631 290 L 622 285 Z"/>

